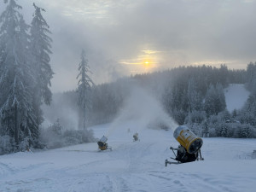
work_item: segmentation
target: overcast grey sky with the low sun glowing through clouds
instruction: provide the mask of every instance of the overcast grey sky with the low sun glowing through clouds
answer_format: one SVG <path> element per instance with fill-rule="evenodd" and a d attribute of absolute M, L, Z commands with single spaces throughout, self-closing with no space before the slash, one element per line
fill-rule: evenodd
<path fill-rule="evenodd" d="M 35 2 L 53 38 L 53 92 L 74 90 L 84 49 L 96 84 L 180 65 L 256 61 L 256 0 L 19 0 Z M 2 13 L 6 4 L 0 2 Z"/>

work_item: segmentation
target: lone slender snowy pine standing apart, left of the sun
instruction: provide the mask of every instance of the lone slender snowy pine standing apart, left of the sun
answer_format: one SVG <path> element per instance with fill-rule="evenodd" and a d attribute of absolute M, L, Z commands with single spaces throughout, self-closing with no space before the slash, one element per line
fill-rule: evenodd
<path fill-rule="evenodd" d="M 84 49 L 81 53 L 81 62 L 79 63 L 79 75 L 77 79 L 79 79 L 79 88 L 78 88 L 78 94 L 79 94 L 79 108 L 82 110 L 83 113 L 83 128 L 86 128 L 86 122 L 87 122 L 87 115 L 86 111 L 90 108 L 90 101 L 91 101 L 91 88 L 94 85 L 93 81 L 90 79 L 88 73 L 90 72 L 90 67 L 88 65 L 88 61 L 85 59 L 85 52 Z"/>

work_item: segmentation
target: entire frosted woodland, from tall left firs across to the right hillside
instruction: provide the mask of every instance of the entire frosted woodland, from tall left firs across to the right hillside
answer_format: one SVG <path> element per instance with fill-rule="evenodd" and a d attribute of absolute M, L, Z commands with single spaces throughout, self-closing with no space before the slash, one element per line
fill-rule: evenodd
<path fill-rule="evenodd" d="M 175 67 L 94 84 L 82 50 L 78 88 L 53 96 L 52 39 L 44 9 L 34 3 L 28 25 L 15 0 L 5 3 L 0 16 L 0 154 L 92 142 L 87 128 L 112 122 L 134 87 L 147 90 L 178 125 L 188 125 L 201 137 L 256 137 L 256 62 L 247 69 Z M 232 113 L 224 97 L 228 84 L 245 84 L 250 91 L 244 107 Z M 44 127 L 46 120 L 54 123 Z"/>

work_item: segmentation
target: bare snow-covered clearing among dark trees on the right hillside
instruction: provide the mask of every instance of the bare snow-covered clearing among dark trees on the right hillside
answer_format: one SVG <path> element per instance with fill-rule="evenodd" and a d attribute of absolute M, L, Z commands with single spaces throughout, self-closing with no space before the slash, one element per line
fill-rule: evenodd
<path fill-rule="evenodd" d="M 234 109 L 240 109 L 247 101 L 249 92 L 245 89 L 244 84 L 230 84 L 224 89 L 226 105 L 229 112 Z"/>

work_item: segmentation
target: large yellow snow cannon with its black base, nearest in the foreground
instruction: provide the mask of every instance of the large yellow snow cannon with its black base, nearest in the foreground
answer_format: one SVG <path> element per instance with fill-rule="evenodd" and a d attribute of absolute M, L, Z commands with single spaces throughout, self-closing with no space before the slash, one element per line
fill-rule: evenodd
<path fill-rule="evenodd" d="M 166 166 L 167 164 L 180 164 L 195 160 L 204 160 L 201 157 L 201 146 L 203 141 L 200 137 L 197 137 L 195 133 L 190 131 L 187 126 L 178 126 L 173 132 L 173 137 L 175 137 L 177 142 L 180 143 L 177 148 L 170 147 L 175 155 L 175 158 L 171 157 L 171 159 L 177 160 L 177 162 L 166 160 Z M 177 150 L 177 154 L 175 154 L 174 150 Z"/>

